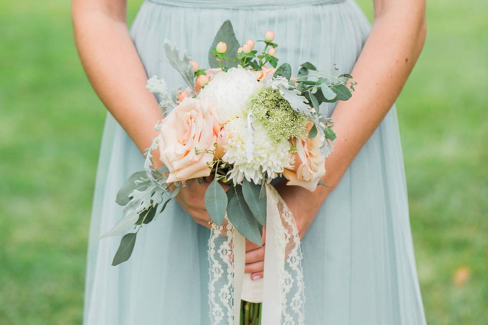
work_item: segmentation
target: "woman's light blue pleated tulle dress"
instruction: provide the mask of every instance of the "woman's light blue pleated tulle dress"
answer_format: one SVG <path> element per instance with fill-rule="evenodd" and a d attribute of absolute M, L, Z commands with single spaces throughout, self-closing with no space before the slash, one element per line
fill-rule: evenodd
<path fill-rule="evenodd" d="M 350 72 L 370 30 L 352 0 L 150 0 L 131 29 L 148 76 L 182 85 L 163 41 L 188 50 L 205 67 L 226 19 L 242 43 L 274 30 L 277 56 L 294 74 L 304 61 L 321 70 L 336 63 Z M 329 113 L 333 108 L 321 107 Z M 120 237 L 99 240 L 123 216 L 114 202 L 117 190 L 142 166 L 136 146 L 109 114 L 90 229 L 84 324 L 206 325 L 209 231 L 177 204 L 141 230 L 124 264 L 110 265 Z M 307 325 L 425 324 L 394 107 L 323 204 L 302 252 Z"/>

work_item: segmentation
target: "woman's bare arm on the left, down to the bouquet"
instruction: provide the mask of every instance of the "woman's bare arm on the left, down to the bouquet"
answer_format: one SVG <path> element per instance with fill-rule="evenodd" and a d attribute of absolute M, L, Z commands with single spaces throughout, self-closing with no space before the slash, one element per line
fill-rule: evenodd
<path fill-rule="evenodd" d="M 74 0 L 74 38 L 90 83 L 142 152 L 156 136 L 154 125 L 162 115 L 145 88 L 147 76 L 129 35 L 125 4 L 113 3 Z"/>

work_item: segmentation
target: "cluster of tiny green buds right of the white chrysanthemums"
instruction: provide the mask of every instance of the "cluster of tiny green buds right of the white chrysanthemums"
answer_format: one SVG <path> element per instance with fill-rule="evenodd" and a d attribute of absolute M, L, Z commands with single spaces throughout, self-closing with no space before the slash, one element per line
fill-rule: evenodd
<path fill-rule="evenodd" d="M 260 87 L 250 97 L 249 110 L 275 142 L 307 136 L 307 116 L 294 111 L 278 89 Z"/>

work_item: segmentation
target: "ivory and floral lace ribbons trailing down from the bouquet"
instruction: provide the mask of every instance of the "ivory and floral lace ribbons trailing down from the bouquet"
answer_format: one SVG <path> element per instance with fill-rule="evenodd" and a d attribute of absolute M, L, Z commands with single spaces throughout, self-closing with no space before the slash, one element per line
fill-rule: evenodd
<path fill-rule="evenodd" d="M 295 220 L 276 189 L 266 184 L 266 246 L 262 323 L 302 325 L 303 272 L 300 238 Z M 214 224 L 208 240 L 208 284 L 212 325 L 238 325 L 245 239 L 230 221 Z"/>

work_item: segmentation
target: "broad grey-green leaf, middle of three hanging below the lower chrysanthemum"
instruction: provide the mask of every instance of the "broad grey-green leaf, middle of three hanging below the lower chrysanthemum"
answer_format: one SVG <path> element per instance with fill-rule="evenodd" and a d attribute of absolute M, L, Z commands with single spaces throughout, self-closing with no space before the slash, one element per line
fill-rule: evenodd
<path fill-rule="evenodd" d="M 232 187 L 229 191 L 234 194 L 227 206 L 227 216 L 237 231 L 256 245 L 262 245 L 261 225 L 254 217 L 244 199 L 240 185 Z"/>

